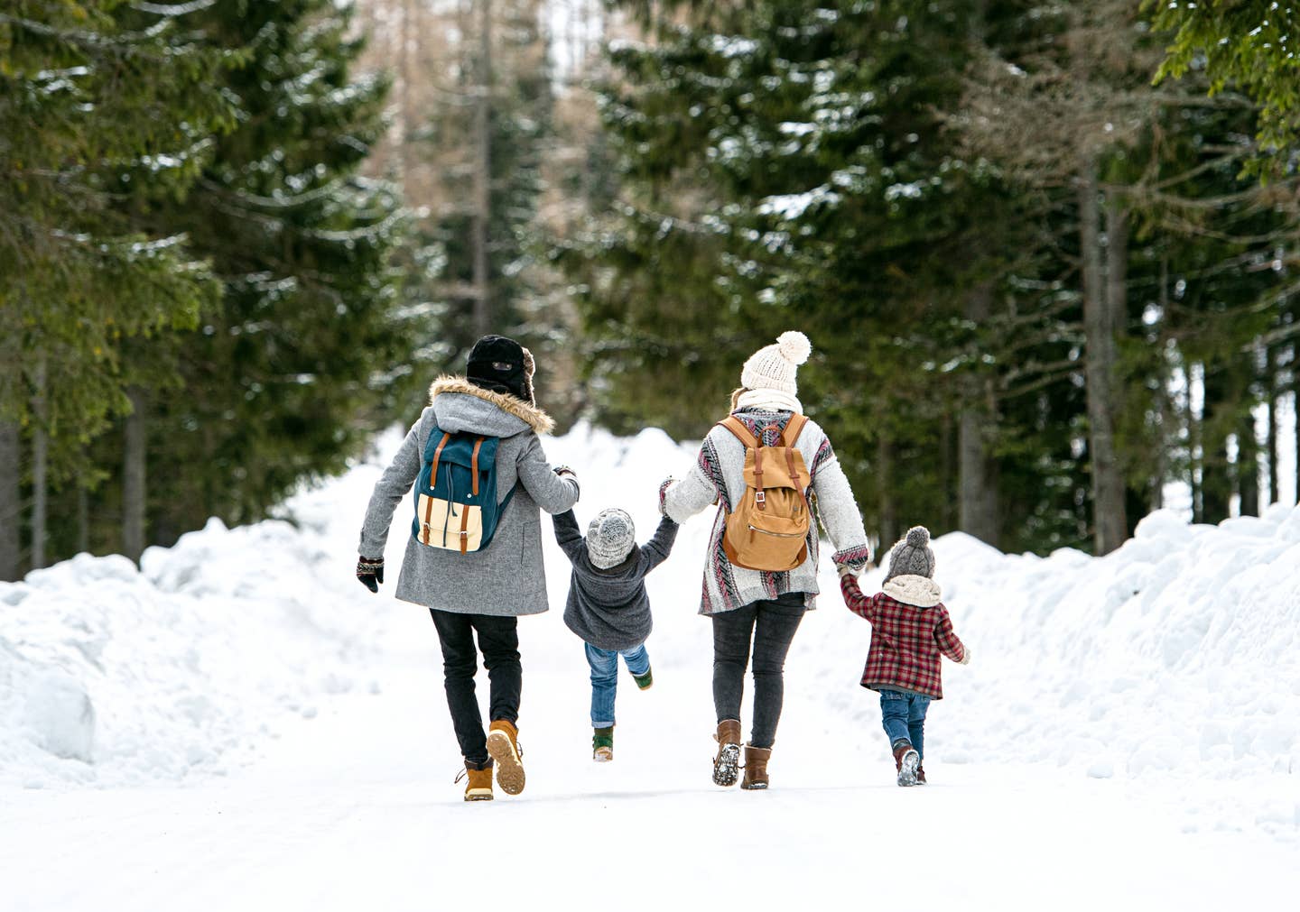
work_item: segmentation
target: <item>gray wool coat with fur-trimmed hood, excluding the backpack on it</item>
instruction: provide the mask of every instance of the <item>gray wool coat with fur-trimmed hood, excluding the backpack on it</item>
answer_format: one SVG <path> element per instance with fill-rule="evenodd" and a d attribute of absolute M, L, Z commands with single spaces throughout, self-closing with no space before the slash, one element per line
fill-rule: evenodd
<path fill-rule="evenodd" d="M 520 616 L 547 611 L 542 564 L 541 511 L 562 513 L 577 503 L 578 487 L 560 478 L 546 461 L 538 434 L 554 422 L 536 405 L 515 396 L 481 390 L 459 377 L 442 377 L 429 390 L 424 409 L 374 485 L 361 526 L 358 552 L 380 556 L 389 538 L 393 511 L 406 500 L 400 529 L 407 537 L 396 598 L 460 614 Z M 515 487 L 500 514 L 497 534 L 484 551 L 467 555 L 420 544 L 411 535 L 415 516 L 410 494 L 420 474 L 430 430 L 467 431 L 500 438 L 497 448 L 498 503 Z"/>

